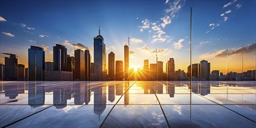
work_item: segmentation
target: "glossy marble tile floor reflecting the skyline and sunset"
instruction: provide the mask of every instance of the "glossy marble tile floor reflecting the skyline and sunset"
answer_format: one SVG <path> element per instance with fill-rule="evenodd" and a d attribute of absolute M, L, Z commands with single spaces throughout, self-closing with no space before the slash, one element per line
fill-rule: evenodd
<path fill-rule="evenodd" d="M 1 81 L 0 127 L 256 127 L 255 81 Z"/>

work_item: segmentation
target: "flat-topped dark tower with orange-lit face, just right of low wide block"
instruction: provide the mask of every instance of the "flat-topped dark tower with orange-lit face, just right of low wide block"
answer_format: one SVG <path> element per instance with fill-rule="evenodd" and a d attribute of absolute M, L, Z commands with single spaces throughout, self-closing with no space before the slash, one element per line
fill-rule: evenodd
<path fill-rule="evenodd" d="M 85 80 L 84 51 L 77 49 L 74 51 L 74 80 Z"/>

